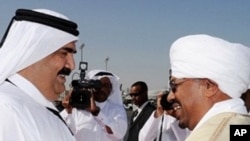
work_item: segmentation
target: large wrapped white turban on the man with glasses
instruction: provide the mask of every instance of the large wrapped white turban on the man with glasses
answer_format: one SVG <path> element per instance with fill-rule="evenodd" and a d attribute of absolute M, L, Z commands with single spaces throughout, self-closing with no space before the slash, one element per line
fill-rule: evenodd
<path fill-rule="evenodd" d="M 209 35 L 190 35 L 170 48 L 172 76 L 209 78 L 232 98 L 250 84 L 250 49 Z"/>

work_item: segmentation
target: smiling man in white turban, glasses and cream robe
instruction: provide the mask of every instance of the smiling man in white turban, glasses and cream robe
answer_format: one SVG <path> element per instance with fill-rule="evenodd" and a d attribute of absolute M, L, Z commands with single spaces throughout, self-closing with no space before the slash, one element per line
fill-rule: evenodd
<path fill-rule="evenodd" d="M 170 48 L 170 93 L 186 141 L 228 141 L 231 124 L 250 124 L 240 98 L 250 82 L 249 48 L 209 35 L 189 35 Z"/>

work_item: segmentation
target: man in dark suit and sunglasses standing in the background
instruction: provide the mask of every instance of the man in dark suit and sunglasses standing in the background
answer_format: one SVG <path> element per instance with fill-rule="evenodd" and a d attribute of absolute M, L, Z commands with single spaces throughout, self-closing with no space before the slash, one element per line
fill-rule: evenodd
<path fill-rule="evenodd" d="M 140 129 L 155 110 L 155 106 L 148 101 L 148 87 L 143 81 L 137 81 L 131 86 L 130 96 L 138 108 L 131 117 L 127 141 L 138 141 Z"/>

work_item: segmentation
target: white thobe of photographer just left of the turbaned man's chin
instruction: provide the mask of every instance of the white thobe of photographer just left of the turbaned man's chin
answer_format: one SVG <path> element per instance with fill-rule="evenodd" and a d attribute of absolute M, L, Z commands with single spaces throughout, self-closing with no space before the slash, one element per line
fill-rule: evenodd
<path fill-rule="evenodd" d="M 162 131 L 162 141 L 184 141 L 189 134 L 188 129 L 181 129 L 178 126 L 178 121 L 169 115 L 164 114 L 155 118 L 153 112 L 139 133 L 139 141 L 153 141 L 155 138 L 159 141 L 159 135 Z M 161 129 L 162 125 L 162 129 Z"/>

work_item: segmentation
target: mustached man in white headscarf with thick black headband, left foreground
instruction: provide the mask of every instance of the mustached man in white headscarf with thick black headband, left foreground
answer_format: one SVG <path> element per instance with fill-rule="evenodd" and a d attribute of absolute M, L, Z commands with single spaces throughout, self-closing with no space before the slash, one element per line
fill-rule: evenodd
<path fill-rule="evenodd" d="M 18 9 L 0 43 L 0 140 L 74 141 L 52 101 L 74 69 L 77 24 L 47 9 Z"/>

